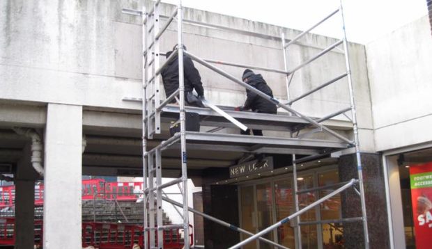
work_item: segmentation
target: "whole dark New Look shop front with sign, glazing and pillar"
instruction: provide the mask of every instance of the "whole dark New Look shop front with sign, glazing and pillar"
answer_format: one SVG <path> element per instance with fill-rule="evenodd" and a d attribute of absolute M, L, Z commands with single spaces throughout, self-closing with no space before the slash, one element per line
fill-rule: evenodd
<path fill-rule="evenodd" d="M 362 153 L 370 248 L 389 248 L 385 180 L 380 159 L 381 154 Z M 252 161 L 231 166 L 226 172 L 229 178 L 204 184 L 204 211 L 232 227 L 256 234 L 294 214 L 296 196 L 297 208 L 301 210 L 357 177 L 355 154 L 298 163 L 295 177 L 298 191 L 295 192 L 291 163 L 275 156 L 264 161 L 268 163 Z M 249 236 L 208 220 L 204 220 L 204 227 L 206 248 L 229 248 Z M 360 249 L 364 248 L 363 230 L 358 186 L 353 186 L 264 237 L 293 249 Z M 242 248 L 274 246 L 256 240 Z"/>

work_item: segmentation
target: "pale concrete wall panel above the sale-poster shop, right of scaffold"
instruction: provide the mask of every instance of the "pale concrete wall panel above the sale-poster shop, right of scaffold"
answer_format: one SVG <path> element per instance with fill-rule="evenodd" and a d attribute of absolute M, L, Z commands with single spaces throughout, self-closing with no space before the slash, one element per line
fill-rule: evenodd
<path fill-rule="evenodd" d="M 432 140 L 431 55 L 427 16 L 367 45 L 377 150 Z"/>

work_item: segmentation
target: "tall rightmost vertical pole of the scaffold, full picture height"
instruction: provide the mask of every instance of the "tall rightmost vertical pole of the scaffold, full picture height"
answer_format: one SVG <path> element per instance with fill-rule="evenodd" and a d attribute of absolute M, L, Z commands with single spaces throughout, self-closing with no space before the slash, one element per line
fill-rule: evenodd
<path fill-rule="evenodd" d="M 340 7 L 339 8 L 341 10 L 341 21 L 342 21 L 342 30 L 343 30 L 343 40 L 344 40 L 344 55 L 345 55 L 345 62 L 346 62 L 346 72 L 348 72 L 347 77 L 348 77 L 348 89 L 350 92 L 351 115 L 353 116 L 352 120 L 353 120 L 353 133 L 354 133 L 354 141 L 355 141 L 355 158 L 357 161 L 357 173 L 358 173 L 359 186 L 360 186 L 360 202 L 362 205 L 364 248 L 369 249 L 369 232 L 368 232 L 368 227 L 367 227 L 366 201 L 364 198 L 362 159 L 360 156 L 360 145 L 359 145 L 357 115 L 356 115 L 355 101 L 354 101 L 353 80 L 351 77 L 351 68 L 350 68 L 350 61 L 349 61 L 349 55 L 348 55 L 348 41 L 346 39 L 344 8 L 342 5 L 342 0 L 340 0 Z"/>

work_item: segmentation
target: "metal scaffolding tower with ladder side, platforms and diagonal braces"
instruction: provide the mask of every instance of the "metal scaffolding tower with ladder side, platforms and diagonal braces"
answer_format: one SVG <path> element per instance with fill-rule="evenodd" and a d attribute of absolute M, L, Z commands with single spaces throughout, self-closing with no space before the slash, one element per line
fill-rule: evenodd
<path fill-rule="evenodd" d="M 227 28 L 224 26 L 218 26 L 215 24 L 206 24 L 203 22 L 196 22 L 192 20 L 183 19 L 183 6 L 181 0 L 179 0 L 178 5 L 173 10 L 173 13 L 169 17 L 160 15 L 160 0 L 153 2 L 153 7 L 150 10 L 146 10 L 145 4 L 143 3 L 142 10 L 130 10 L 123 9 L 123 13 L 127 13 L 130 15 L 141 16 L 142 22 L 142 39 L 143 39 L 143 74 L 142 74 L 142 99 L 125 97 L 123 100 L 125 101 L 139 101 L 142 102 L 142 141 L 143 141 L 143 177 L 144 177 L 144 245 L 145 248 L 163 248 L 164 238 L 163 231 L 169 230 L 173 228 L 183 228 L 184 230 L 184 243 L 185 248 L 190 248 L 192 244 L 190 241 L 190 225 L 188 214 L 189 211 L 192 211 L 194 214 L 198 214 L 203 216 L 204 218 L 208 218 L 213 220 L 220 225 L 224 225 L 226 227 L 230 227 L 232 230 L 242 232 L 248 234 L 249 237 L 240 243 L 232 246 L 231 248 L 240 248 L 245 244 L 253 241 L 255 239 L 259 239 L 265 243 L 270 243 L 272 246 L 276 246 L 277 248 L 286 248 L 285 246 L 281 246 L 274 241 L 270 241 L 263 237 L 264 234 L 275 230 L 277 227 L 283 225 L 284 223 L 288 223 L 288 221 L 294 220 L 295 227 L 295 243 L 297 248 L 301 248 L 301 234 L 300 234 L 300 215 L 304 212 L 308 211 L 316 207 L 318 204 L 321 204 L 325 200 L 332 198 L 334 195 L 345 191 L 348 188 L 354 188 L 355 191 L 360 195 L 360 202 L 362 207 L 362 216 L 360 217 L 352 217 L 352 218 L 343 218 L 340 220 L 332 220 L 332 222 L 338 223 L 348 223 L 355 221 L 362 221 L 363 230 L 364 230 L 364 246 L 365 248 L 369 248 L 369 236 L 367 229 L 367 215 L 366 215 L 366 205 L 364 200 L 364 186 L 363 186 L 363 177 L 362 177 L 362 163 L 360 159 L 360 147 L 359 147 L 359 138 L 358 138 L 358 128 L 357 128 L 357 120 L 355 113 L 355 102 L 353 96 L 353 83 L 351 79 L 350 72 L 350 63 L 348 60 L 348 42 L 346 39 L 345 33 L 345 23 L 344 23 L 344 12 L 342 8 L 342 2 L 340 2 L 339 8 L 334 10 L 330 15 L 327 15 L 320 22 L 316 23 L 314 26 L 311 26 L 310 29 L 300 33 L 298 36 L 293 38 L 292 40 L 286 40 L 284 37 L 284 33 L 281 33 L 281 50 L 283 51 L 284 57 L 284 70 L 277 70 L 272 68 L 265 67 L 256 67 L 252 65 L 240 65 L 238 63 L 230 63 L 223 61 L 215 61 L 215 60 L 204 60 L 191 54 L 189 51 L 185 51 L 183 47 L 183 22 L 192 25 L 199 26 L 208 26 L 213 29 L 225 29 L 231 32 L 238 33 L 248 33 L 247 31 L 240 31 L 236 29 Z M 304 61 L 300 65 L 293 67 L 292 69 L 288 69 L 288 51 L 291 45 L 298 43 L 298 40 L 302 38 L 304 35 L 309 33 L 312 29 L 316 28 L 323 22 L 325 22 L 330 17 L 340 14 L 341 17 L 341 28 L 343 30 L 343 37 L 338 42 L 335 42 L 330 47 L 325 48 L 320 53 L 316 54 L 309 58 L 307 61 Z M 166 21 L 161 26 L 161 19 L 164 18 Z M 162 33 L 167 30 L 171 22 L 175 21 L 177 23 L 177 46 L 176 49 L 173 50 L 173 53 L 161 64 L 160 56 L 162 53 L 160 52 L 160 38 Z M 275 37 L 272 37 L 275 38 Z M 293 78 L 293 74 L 298 70 L 301 70 L 302 67 L 308 65 L 312 61 L 315 61 L 317 58 L 320 58 L 327 52 L 332 51 L 332 49 L 337 48 L 339 45 L 343 45 L 344 49 L 344 58 L 346 61 L 346 72 L 338 75 L 334 79 L 323 83 L 321 86 L 318 86 L 312 90 L 309 90 L 307 93 L 303 93 L 299 97 L 291 98 L 290 95 L 290 86 L 289 83 Z M 288 129 L 291 134 L 291 138 L 274 138 L 274 137 L 259 137 L 259 136 L 241 136 L 234 134 L 215 134 L 215 133 L 200 133 L 194 131 L 186 131 L 185 129 L 185 111 L 192 110 L 199 115 L 212 116 L 213 122 L 212 124 L 218 124 L 220 127 L 232 127 L 230 122 L 226 122 L 224 117 L 221 117 L 218 113 L 213 111 L 209 111 L 208 109 L 194 108 L 185 106 L 185 85 L 184 85 L 184 74 L 183 74 L 183 60 L 178 60 L 178 80 L 179 80 L 179 88 L 173 93 L 171 96 L 167 97 L 163 101 L 163 97 L 160 97 L 160 72 L 170 61 L 175 60 L 177 58 L 183 58 L 183 56 L 189 56 L 193 61 L 200 63 L 201 65 L 208 67 L 210 70 L 221 74 L 223 77 L 230 79 L 231 81 L 238 83 L 240 86 L 250 90 L 263 99 L 266 99 L 273 104 L 276 104 L 279 108 L 284 109 L 289 113 L 289 115 L 275 115 L 275 114 L 265 114 L 265 113 L 247 113 L 247 112 L 228 112 L 233 118 L 240 118 L 243 121 L 247 122 L 251 125 L 251 127 L 267 127 L 268 129 L 277 128 L 275 130 L 280 129 Z M 244 83 L 231 74 L 224 72 L 223 70 L 215 67 L 211 63 L 217 63 L 221 65 L 231 65 L 234 67 L 243 67 L 243 68 L 251 68 L 256 70 L 262 70 L 267 72 L 274 72 L 278 74 L 284 74 L 286 77 L 286 94 L 287 94 L 287 102 L 282 103 L 275 97 L 270 97 L 265 93 L 262 93 L 259 90 L 256 90 L 252 86 L 249 86 L 247 83 Z M 291 107 L 294 102 L 315 93 L 330 84 L 339 81 L 340 79 L 347 78 L 348 81 L 348 91 L 350 97 L 350 106 L 345 109 L 341 109 L 335 113 L 331 113 L 330 115 L 326 115 L 323 118 L 309 118 L 307 115 L 296 111 Z M 179 98 L 178 104 L 179 106 L 169 105 L 169 103 L 176 98 Z M 346 113 L 350 111 L 351 117 L 349 118 Z M 153 139 L 153 136 L 161 133 L 161 116 L 162 115 L 179 115 L 180 118 L 180 132 L 171 136 L 171 138 L 164 140 L 159 145 L 153 147 L 151 150 L 148 150 L 148 140 Z M 333 131 L 329 127 L 326 127 L 322 124 L 325 120 L 330 120 L 330 118 L 334 118 L 337 115 L 346 115 L 346 117 L 353 123 L 353 134 L 354 140 L 350 140 L 341 134 L 338 134 L 336 131 Z M 307 132 L 300 134 L 301 130 L 307 129 Z M 316 140 L 306 138 L 310 134 L 314 134 L 317 132 L 325 132 L 330 134 L 334 138 L 337 138 L 338 141 L 334 140 Z M 162 152 L 167 150 L 169 147 L 176 147 L 179 151 L 179 157 L 181 160 L 181 177 L 178 179 L 174 179 L 171 182 L 167 182 L 162 184 Z M 293 156 L 293 191 L 294 191 L 294 204 L 295 204 L 295 213 L 290 216 L 279 220 L 278 223 L 271 225 L 270 227 L 265 228 L 261 232 L 257 234 L 252 234 L 246 230 L 242 230 L 240 227 L 236 225 L 229 224 L 224 222 L 223 220 L 219 220 L 212 216 L 208 216 L 208 214 L 203 214 L 200 211 L 196 211 L 189 207 L 188 204 L 188 191 L 187 191 L 187 147 L 200 147 L 204 150 L 220 150 L 220 151 L 238 151 L 238 152 L 266 152 L 266 153 L 275 153 L 275 154 L 292 154 Z M 298 191 L 298 182 L 297 182 L 297 164 L 305 161 L 311 161 L 314 159 L 321 158 L 323 156 L 330 155 L 332 152 L 337 152 L 340 150 L 345 150 L 347 147 L 355 148 L 355 156 L 357 163 L 357 179 L 351 179 L 348 182 L 341 182 L 339 184 L 334 184 L 331 186 L 323 186 L 319 188 L 311 188 L 307 191 L 319 191 L 325 188 L 335 188 L 330 194 L 325 195 L 323 198 L 316 200 L 315 202 L 309 204 L 307 207 L 300 209 L 298 204 L 298 195 L 304 193 L 304 191 Z M 306 154 L 309 156 L 305 156 L 301 159 L 296 159 L 296 154 Z M 169 186 L 178 185 L 180 191 L 182 191 L 183 195 L 183 203 L 175 202 L 167 196 L 163 195 L 163 189 Z M 357 188 L 358 187 L 358 188 Z M 162 200 L 165 202 L 171 203 L 177 207 L 183 207 L 183 223 L 174 224 L 174 225 L 164 225 L 162 223 Z M 155 220 L 156 218 L 156 220 Z"/>

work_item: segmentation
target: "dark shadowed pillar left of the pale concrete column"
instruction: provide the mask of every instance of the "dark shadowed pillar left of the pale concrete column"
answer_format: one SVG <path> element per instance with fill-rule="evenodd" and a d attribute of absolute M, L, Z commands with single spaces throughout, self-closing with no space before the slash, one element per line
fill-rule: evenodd
<path fill-rule="evenodd" d="M 34 188 L 38 174 L 31 166 L 30 146 L 17 163 L 15 172 L 15 248 L 33 248 L 34 245 Z"/>

